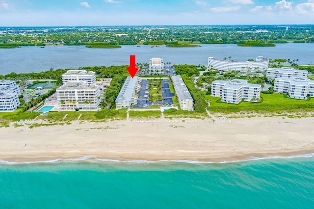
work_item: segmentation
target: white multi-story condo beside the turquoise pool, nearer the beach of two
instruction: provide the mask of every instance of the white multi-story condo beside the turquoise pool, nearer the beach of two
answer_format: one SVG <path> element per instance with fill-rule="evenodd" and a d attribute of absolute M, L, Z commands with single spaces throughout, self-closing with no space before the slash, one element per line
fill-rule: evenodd
<path fill-rule="evenodd" d="M 67 82 L 56 89 L 59 111 L 97 111 L 101 103 L 100 87 L 94 83 Z"/>

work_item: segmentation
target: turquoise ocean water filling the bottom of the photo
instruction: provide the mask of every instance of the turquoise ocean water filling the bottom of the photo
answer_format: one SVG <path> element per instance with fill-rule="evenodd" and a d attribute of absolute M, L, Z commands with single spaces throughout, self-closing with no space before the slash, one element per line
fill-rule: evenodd
<path fill-rule="evenodd" d="M 1 209 L 314 208 L 314 157 L 0 164 Z"/>

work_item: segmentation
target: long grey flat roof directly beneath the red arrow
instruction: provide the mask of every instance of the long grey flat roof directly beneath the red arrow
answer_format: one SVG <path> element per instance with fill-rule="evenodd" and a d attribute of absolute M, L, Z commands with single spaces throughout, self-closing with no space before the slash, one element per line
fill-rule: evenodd
<path fill-rule="evenodd" d="M 116 102 L 131 101 L 137 78 L 137 76 L 134 76 L 133 78 L 128 76 L 119 92 Z"/>

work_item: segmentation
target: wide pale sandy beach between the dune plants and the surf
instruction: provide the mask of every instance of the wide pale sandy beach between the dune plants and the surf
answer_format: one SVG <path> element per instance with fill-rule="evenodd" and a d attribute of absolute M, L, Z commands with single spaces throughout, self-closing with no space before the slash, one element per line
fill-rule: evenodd
<path fill-rule="evenodd" d="M 24 126 L 0 128 L 0 159 L 29 162 L 94 156 L 223 162 L 314 153 L 313 117 L 237 118 L 224 123 L 184 120 L 75 121 L 32 129 L 26 125 L 29 122 L 20 122 Z"/>

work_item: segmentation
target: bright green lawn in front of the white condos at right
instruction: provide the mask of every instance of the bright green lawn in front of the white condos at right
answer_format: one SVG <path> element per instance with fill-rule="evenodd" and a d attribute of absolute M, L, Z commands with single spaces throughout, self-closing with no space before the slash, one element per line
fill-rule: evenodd
<path fill-rule="evenodd" d="M 206 94 L 206 91 L 203 91 Z M 285 98 L 283 94 L 261 94 L 262 103 L 242 102 L 240 104 L 217 103 L 220 98 L 205 95 L 207 100 L 211 100 L 209 111 L 221 113 L 236 112 L 308 112 L 314 110 L 314 99 L 296 100 Z"/>

